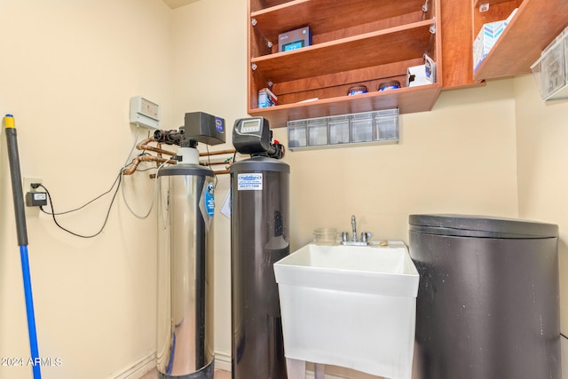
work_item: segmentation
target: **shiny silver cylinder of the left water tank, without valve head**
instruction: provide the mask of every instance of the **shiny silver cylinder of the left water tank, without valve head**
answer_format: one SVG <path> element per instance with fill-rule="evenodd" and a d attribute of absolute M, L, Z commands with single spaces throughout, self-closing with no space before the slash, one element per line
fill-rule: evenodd
<path fill-rule="evenodd" d="M 158 171 L 159 377 L 213 379 L 213 171 Z"/>

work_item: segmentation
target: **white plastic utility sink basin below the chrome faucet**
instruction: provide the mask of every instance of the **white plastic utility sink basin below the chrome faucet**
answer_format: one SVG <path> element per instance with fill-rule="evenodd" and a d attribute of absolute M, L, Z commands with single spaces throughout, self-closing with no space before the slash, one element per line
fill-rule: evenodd
<path fill-rule="evenodd" d="M 311 243 L 274 273 L 288 359 L 410 379 L 419 276 L 403 242 Z"/>

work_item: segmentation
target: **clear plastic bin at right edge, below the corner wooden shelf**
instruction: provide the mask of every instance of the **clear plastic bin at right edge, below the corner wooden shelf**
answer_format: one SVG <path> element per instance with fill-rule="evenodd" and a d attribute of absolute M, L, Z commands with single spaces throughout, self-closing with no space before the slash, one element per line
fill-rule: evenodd
<path fill-rule="evenodd" d="M 540 98 L 568 99 L 568 28 L 549 43 L 531 69 L 540 90 Z"/>

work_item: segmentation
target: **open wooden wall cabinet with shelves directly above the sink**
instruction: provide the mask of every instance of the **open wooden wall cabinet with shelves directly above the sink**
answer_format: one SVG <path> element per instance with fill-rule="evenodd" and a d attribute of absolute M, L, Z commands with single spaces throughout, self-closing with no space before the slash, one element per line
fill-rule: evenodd
<path fill-rule="evenodd" d="M 430 110 L 441 80 L 406 87 L 406 70 L 422 65 L 426 53 L 442 77 L 439 1 L 249 0 L 248 114 L 283 127 L 288 120 L 335 114 Z M 279 52 L 279 34 L 305 26 L 312 45 Z M 377 91 L 393 79 L 402 88 Z M 368 92 L 347 96 L 359 84 Z M 276 107 L 257 107 L 263 88 L 278 97 Z"/>

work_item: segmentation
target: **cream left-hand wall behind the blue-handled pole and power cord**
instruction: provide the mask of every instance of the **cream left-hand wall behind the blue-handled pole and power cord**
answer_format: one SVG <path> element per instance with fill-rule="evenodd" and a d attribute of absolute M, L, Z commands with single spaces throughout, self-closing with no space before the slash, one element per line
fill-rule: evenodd
<path fill-rule="evenodd" d="M 15 116 L 24 177 L 42 178 L 56 211 L 104 193 L 135 138 L 129 100 L 144 95 L 172 122 L 171 10 L 161 0 L 4 0 L 0 112 Z M 4 134 L 4 131 L 3 133 Z M 144 133 L 143 133 L 144 134 Z M 12 189 L 0 143 L 0 357 L 30 356 Z M 142 213 L 152 182 L 127 178 Z M 133 181 L 136 190 L 131 191 Z M 99 230 L 110 197 L 59 217 L 77 233 Z M 155 219 L 132 217 L 120 196 L 97 238 L 28 217 L 40 355 L 61 359 L 43 377 L 109 377 L 155 351 Z M 31 367 L 0 367 L 29 378 Z"/>

